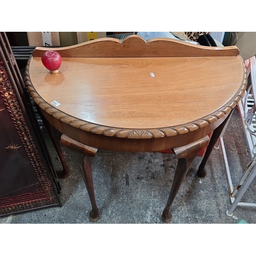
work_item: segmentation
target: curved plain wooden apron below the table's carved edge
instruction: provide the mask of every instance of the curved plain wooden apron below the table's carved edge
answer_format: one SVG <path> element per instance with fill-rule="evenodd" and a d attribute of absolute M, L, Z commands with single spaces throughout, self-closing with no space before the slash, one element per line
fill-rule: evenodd
<path fill-rule="evenodd" d="M 51 125 L 53 125 L 58 131 L 67 135 L 68 137 L 89 146 L 118 152 L 157 152 L 190 144 L 214 131 L 216 127 L 218 127 L 230 113 L 228 112 L 214 123 L 210 123 L 193 132 L 178 134 L 172 137 L 165 136 L 162 138 L 151 139 L 130 139 L 110 137 L 102 134 L 83 131 L 77 127 L 54 118 L 44 110 L 41 110 L 41 112 Z"/>

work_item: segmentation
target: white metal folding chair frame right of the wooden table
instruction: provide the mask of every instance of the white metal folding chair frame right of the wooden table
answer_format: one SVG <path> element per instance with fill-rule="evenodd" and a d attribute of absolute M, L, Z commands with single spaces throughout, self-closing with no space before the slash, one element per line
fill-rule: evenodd
<path fill-rule="evenodd" d="M 252 180 L 256 176 L 256 116 L 255 116 L 255 104 L 256 104 L 256 58 L 255 56 L 244 61 L 245 66 L 247 68 L 248 75 L 250 74 L 251 84 L 245 91 L 243 99 L 238 104 L 239 115 L 243 124 L 244 134 L 246 138 L 246 142 L 248 145 L 251 161 L 247 165 L 247 169 L 242 175 L 240 181 L 233 187 L 230 170 L 228 166 L 225 145 L 223 141 L 223 135 L 225 133 L 226 127 L 224 127 L 221 136 L 219 137 L 218 142 L 216 143 L 215 148 L 218 148 L 218 144 L 221 144 L 221 150 L 223 153 L 226 173 L 227 173 L 227 181 L 229 188 L 229 196 L 231 205 L 226 211 L 227 216 L 232 216 L 233 211 L 237 206 L 249 206 L 256 207 L 256 203 L 245 203 L 240 202 L 242 197 L 244 196 L 246 190 L 251 184 Z M 228 124 L 228 122 L 227 122 Z M 226 124 L 226 126 L 227 126 Z"/>

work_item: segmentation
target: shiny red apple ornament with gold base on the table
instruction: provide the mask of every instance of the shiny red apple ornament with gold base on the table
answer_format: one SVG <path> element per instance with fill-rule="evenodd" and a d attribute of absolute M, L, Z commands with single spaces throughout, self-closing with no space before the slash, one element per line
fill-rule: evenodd
<path fill-rule="evenodd" d="M 45 52 L 42 57 L 42 64 L 50 70 L 52 74 L 58 73 L 58 69 L 61 65 L 61 56 L 58 52 L 55 51 L 47 51 Z"/>

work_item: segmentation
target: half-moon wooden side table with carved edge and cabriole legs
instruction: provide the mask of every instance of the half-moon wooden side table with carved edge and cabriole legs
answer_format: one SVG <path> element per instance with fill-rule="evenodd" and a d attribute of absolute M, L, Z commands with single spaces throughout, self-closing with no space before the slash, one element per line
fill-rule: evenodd
<path fill-rule="evenodd" d="M 233 108 L 244 94 L 246 70 L 237 47 L 204 47 L 175 39 L 123 41 L 100 38 L 54 48 L 62 57 L 50 74 L 37 47 L 28 61 L 26 84 L 39 106 L 63 164 L 54 128 L 73 152 L 92 203 L 90 219 L 99 219 L 90 158 L 98 148 L 123 152 L 173 149 L 178 165 L 162 219 L 197 154 L 208 145 L 198 176 Z"/>

